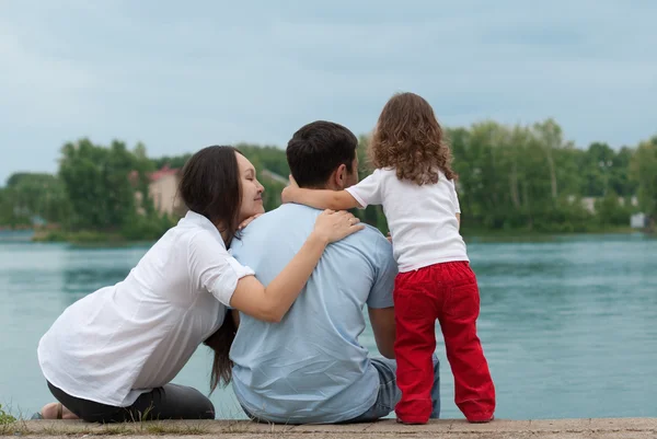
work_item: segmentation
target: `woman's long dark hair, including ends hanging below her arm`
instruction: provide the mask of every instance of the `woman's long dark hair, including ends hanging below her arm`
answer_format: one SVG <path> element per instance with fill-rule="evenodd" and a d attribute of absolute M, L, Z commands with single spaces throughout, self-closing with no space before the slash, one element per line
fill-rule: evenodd
<path fill-rule="evenodd" d="M 238 231 L 242 185 L 235 148 L 212 146 L 196 152 L 185 163 L 178 193 L 185 206 L 203 215 L 226 233 L 226 245 L 230 244 Z M 230 312 L 223 324 L 210 335 L 204 344 L 215 351 L 210 392 L 218 384 L 227 385 L 232 378 L 230 346 L 235 337 L 237 327 Z"/>

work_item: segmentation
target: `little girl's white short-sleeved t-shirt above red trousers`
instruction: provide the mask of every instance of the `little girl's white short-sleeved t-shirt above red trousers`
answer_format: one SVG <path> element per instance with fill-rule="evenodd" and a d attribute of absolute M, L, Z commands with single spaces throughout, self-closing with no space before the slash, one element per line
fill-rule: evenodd
<path fill-rule="evenodd" d="M 360 207 L 381 205 L 401 273 L 429 265 L 469 261 L 459 233 L 461 212 L 454 182 L 439 172 L 438 183 L 399 180 L 394 169 L 378 169 L 346 190 Z"/>

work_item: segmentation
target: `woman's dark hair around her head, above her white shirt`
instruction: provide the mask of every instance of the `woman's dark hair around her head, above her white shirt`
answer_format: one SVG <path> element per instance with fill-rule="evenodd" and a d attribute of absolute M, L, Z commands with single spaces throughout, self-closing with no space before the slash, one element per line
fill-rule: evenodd
<path fill-rule="evenodd" d="M 178 193 L 187 209 L 203 215 L 227 232 L 227 245 L 240 224 L 242 185 L 233 147 L 212 146 L 196 152 L 185 166 Z"/>

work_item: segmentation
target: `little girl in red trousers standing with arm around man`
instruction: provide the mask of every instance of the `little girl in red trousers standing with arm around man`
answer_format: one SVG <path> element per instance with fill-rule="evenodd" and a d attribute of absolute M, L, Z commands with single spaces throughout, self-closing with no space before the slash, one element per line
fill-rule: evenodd
<path fill-rule="evenodd" d="M 394 95 L 379 117 L 370 155 L 377 170 L 359 184 L 313 190 L 299 188 L 290 177 L 283 201 L 318 209 L 382 205 L 400 272 L 394 290 L 397 419 L 425 424 L 429 418 L 438 320 L 457 406 L 471 423 L 489 421 L 495 386 L 476 335 L 479 288 L 459 233 L 451 152 L 431 106 L 413 93 Z"/>

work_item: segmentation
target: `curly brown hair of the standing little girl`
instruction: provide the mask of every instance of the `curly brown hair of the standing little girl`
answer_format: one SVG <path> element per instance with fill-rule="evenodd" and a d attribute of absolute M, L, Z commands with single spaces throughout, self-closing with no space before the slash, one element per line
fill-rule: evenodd
<path fill-rule="evenodd" d="M 369 148 L 376 167 L 394 167 L 400 180 L 417 185 L 438 183 L 438 170 L 448 180 L 452 154 L 442 137 L 434 108 L 414 93 L 397 93 L 388 101 Z"/>

